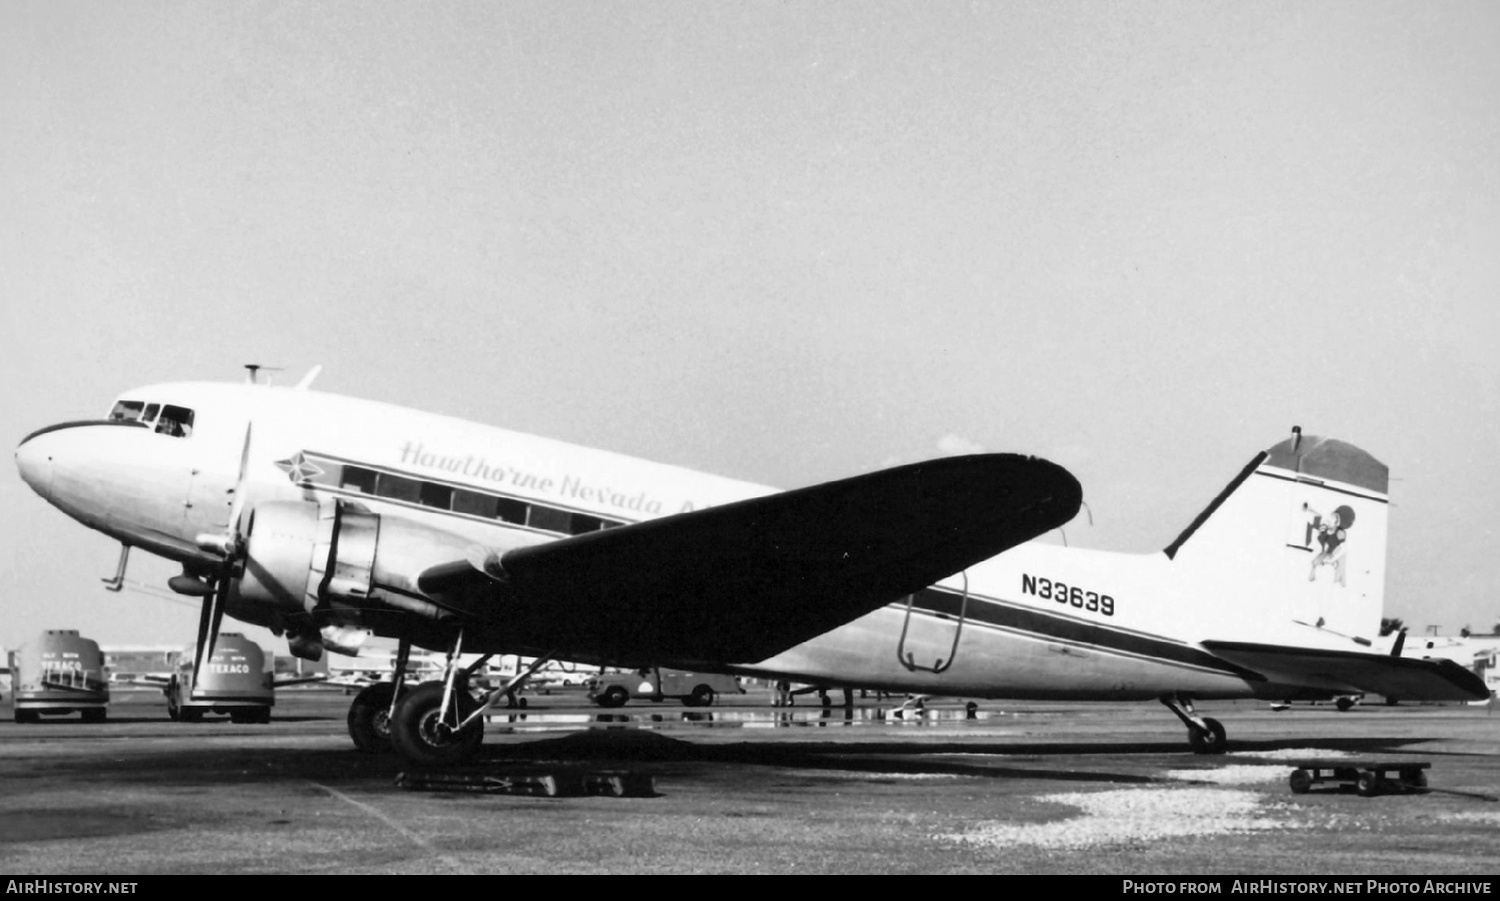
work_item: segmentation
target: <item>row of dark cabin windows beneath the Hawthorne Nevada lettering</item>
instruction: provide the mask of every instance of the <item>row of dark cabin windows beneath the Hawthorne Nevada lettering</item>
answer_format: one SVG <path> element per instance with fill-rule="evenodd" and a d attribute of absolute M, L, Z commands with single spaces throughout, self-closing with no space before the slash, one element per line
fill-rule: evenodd
<path fill-rule="evenodd" d="M 543 532 L 561 532 L 564 535 L 582 535 L 624 525 L 615 519 L 603 519 L 572 510 L 558 510 L 543 504 L 530 504 L 514 498 L 488 495 L 470 489 L 459 489 L 435 481 L 408 478 L 392 472 L 376 472 L 363 466 L 327 465 L 318 462 L 324 472 L 312 477 L 314 483 L 338 486 L 346 492 L 360 492 L 406 504 L 420 504 L 435 510 L 450 510 L 483 519 L 498 519 L 500 522 L 530 526 Z"/>

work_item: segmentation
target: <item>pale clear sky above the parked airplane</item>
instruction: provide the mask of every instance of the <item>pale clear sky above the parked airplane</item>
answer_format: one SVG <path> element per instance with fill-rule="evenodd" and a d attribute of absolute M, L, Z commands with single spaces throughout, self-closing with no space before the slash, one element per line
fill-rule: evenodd
<path fill-rule="evenodd" d="M 964 448 L 1166 546 L 1293 424 L 1500 621 L 1500 4 L 0 4 L 0 403 L 318 387 L 794 487 Z M 195 604 L 0 474 L 0 645 Z M 171 570 L 132 571 L 164 582 Z"/>

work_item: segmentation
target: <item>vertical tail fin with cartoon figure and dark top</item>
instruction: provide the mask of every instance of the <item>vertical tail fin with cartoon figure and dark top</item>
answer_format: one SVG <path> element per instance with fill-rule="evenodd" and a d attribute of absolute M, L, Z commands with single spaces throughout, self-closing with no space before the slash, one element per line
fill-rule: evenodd
<path fill-rule="evenodd" d="M 1384 607 L 1388 484 L 1380 460 L 1299 429 L 1251 460 L 1166 549 L 1194 588 L 1203 637 L 1370 646 Z"/>

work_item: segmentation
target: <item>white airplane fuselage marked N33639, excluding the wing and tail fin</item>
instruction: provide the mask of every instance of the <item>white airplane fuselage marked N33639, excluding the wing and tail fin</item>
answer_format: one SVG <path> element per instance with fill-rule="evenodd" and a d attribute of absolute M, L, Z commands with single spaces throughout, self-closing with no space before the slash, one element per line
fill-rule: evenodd
<path fill-rule="evenodd" d="M 158 420 L 144 414 L 158 408 Z M 160 423 L 174 409 L 182 423 Z M 122 394 L 122 420 L 42 429 L 16 450 L 22 477 L 51 504 L 128 546 L 207 571 L 220 556 L 237 486 L 256 535 L 272 510 L 358 505 L 378 517 L 384 558 L 356 600 L 405 604 L 420 619 L 414 579 L 483 546 L 504 552 L 772 493 L 774 489 L 458 418 L 304 390 L 168 384 Z M 135 414 L 138 418 L 130 420 Z M 248 448 L 248 450 L 246 450 Z M 242 453 L 244 456 L 243 478 Z M 303 505 L 303 507 L 297 507 Z M 309 516 L 314 516 L 309 513 Z M 309 526 L 312 528 L 312 526 Z M 374 541 L 375 538 L 372 538 Z M 278 630 L 369 627 L 396 634 L 412 622 L 362 603 L 322 604 L 312 588 L 250 592 L 228 612 Z M 362 594 L 364 592 L 364 594 Z M 384 594 L 382 594 L 384 592 Z M 728 672 L 825 685 L 926 694 L 1028 699 L 1274 696 L 1263 679 L 1197 645 L 1206 615 L 1226 610 L 1221 579 L 1166 555 L 1120 555 L 1034 541 L 930 589 L 754 664 Z M 816 598 L 808 598 L 816 603 Z M 388 612 L 387 612 L 388 613 Z M 417 630 L 435 645 L 434 631 Z M 465 636 L 466 651 L 540 654 L 502 618 Z M 672 666 L 666 660 L 597 663 Z M 681 661 L 706 669 L 705 661 Z"/>

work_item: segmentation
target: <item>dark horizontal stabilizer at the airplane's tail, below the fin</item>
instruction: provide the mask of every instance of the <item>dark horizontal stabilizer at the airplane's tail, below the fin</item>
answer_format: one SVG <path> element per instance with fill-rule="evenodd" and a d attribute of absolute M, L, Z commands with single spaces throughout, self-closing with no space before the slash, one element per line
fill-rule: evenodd
<path fill-rule="evenodd" d="M 1364 691 L 1396 700 L 1485 700 L 1484 679 L 1452 660 L 1413 660 L 1359 651 L 1324 651 L 1281 645 L 1203 642 L 1216 657 L 1252 669 L 1272 682 Z"/>

